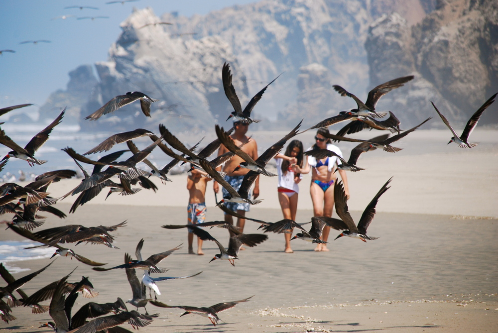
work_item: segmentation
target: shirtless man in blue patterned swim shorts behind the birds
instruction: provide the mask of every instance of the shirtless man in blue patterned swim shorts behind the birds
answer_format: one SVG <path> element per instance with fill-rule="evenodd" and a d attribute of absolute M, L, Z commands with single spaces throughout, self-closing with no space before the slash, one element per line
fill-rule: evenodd
<path fill-rule="evenodd" d="M 242 146 L 242 150 L 245 151 L 246 153 L 249 154 L 249 156 L 253 159 L 257 159 L 257 144 L 254 139 L 249 139 L 246 136 L 246 133 L 248 132 L 249 124 L 243 123 L 241 121 L 236 121 L 234 122 L 234 133 L 230 135 L 230 137 L 234 140 L 234 143 L 237 146 L 240 146 L 242 143 L 246 143 L 244 146 Z M 229 150 L 222 144 L 220 146 L 220 149 L 218 150 L 218 156 L 228 152 Z M 239 166 L 241 162 L 244 162 L 244 160 L 235 155 L 232 157 L 225 165 L 223 166 L 223 171 L 227 173 L 225 176 L 225 180 L 232 185 L 234 189 L 239 191 L 239 188 L 241 187 L 242 180 L 244 179 L 244 176 L 249 172 L 249 169 L 245 168 L 240 168 L 237 171 L 234 171 L 235 168 Z M 221 167 L 217 169 L 218 171 L 221 171 Z M 214 182 L 213 184 L 213 190 L 215 193 L 220 192 L 220 186 L 218 185 L 218 182 Z M 228 192 L 226 192 L 225 189 L 223 189 L 223 196 L 227 196 Z M 256 178 L 254 181 L 254 189 L 252 190 L 252 197 L 253 199 L 256 199 L 259 196 L 259 177 Z M 250 198 L 250 194 L 249 194 Z M 225 203 L 225 206 L 232 210 L 236 211 L 238 214 L 246 216 L 246 212 L 249 212 L 249 204 L 248 203 L 231 203 L 227 202 Z M 234 224 L 234 219 L 230 214 L 225 214 L 225 222 Z M 246 219 L 241 219 L 239 218 L 237 220 L 237 226 L 240 228 L 241 232 L 244 231 L 244 225 L 246 224 Z"/>

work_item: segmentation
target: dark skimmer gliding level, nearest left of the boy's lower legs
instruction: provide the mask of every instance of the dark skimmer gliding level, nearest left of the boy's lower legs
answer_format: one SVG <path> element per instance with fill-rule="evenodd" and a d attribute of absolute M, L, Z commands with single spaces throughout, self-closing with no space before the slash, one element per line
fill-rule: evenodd
<path fill-rule="evenodd" d="M 126 221 L 111 226 L 90 226 L 86 227 L 80 224 L 68 224 L 40 230 L 34 233 L 36 237 L 45 239 L 47 246 L 54 246 L 57 243 L 74 243 L 78 245 L 81 242 L 90 242 L 93 244 L 105 244 L 108 247 L 118 248 L 112 243 L 114 237 L 109 233 L 116 231 L 118 227 L 124 226 Z M 44 246 L 39 245 L 39 246 Z"/>

